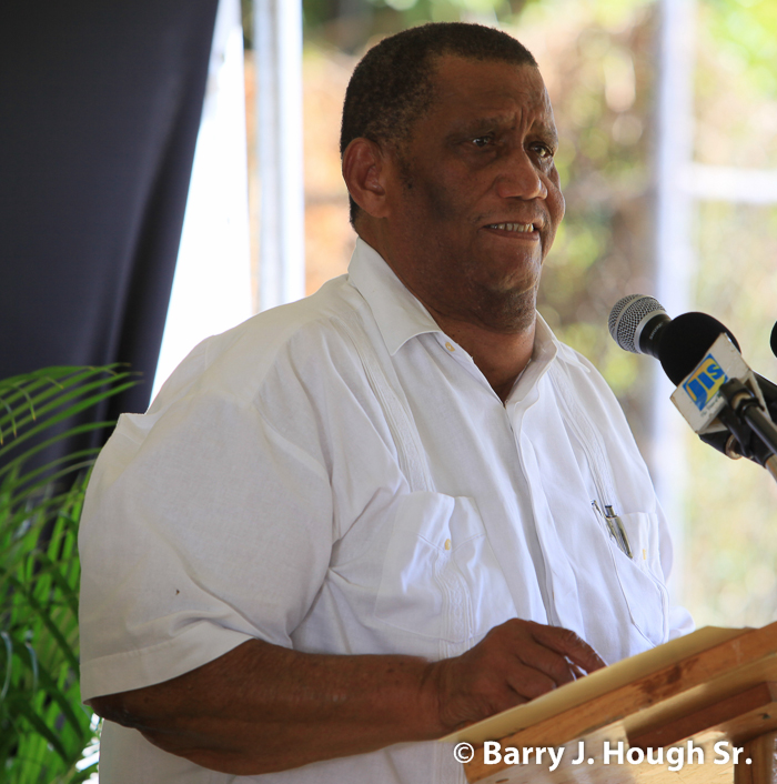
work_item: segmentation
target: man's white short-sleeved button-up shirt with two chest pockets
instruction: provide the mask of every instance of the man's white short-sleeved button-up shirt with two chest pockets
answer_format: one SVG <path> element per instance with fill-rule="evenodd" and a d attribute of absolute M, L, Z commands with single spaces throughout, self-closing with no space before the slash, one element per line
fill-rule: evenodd
<path fill-rule="evenodd" d="M 613 506 L 629 559 L 593 502 Z M 607 662 L 690 630 L 663 513 L 604 380 L 539 319 L 503 404 L 361 240 L 349 274 L 201 343 L 123 415 L 82 515 L 84 698 L 258 637 L 463 653 L 523 617 Z M 264 776 L 206 771 L 105 723 L 101 783 L 453 784 L 444 744 Z"/>

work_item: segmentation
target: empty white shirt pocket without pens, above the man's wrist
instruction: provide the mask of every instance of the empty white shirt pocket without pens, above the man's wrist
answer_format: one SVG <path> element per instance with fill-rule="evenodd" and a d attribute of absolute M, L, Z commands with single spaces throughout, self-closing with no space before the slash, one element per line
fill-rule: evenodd
<path fill-rule="evenodd" d="M 482 636 L 515 616 L 474 499 L 418 492 L 400 500 L 375 616 L 450 643 Z"/>

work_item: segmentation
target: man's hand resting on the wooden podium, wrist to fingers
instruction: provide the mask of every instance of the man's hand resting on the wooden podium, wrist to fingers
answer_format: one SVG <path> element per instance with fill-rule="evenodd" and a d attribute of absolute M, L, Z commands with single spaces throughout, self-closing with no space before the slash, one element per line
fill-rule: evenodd
<path fill-rule="evenodd" d="M 604 666 L 574 632 L 512 619 L 492 629 L 471 651 L 432 664 L 431 680 L 447 733 Z"/>

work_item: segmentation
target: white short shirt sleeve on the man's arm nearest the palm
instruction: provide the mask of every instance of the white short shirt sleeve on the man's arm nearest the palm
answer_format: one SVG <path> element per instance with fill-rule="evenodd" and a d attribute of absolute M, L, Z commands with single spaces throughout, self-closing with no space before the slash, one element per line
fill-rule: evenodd
<path fill-rule="evenodd" d="M 291 646 L 332 516 L 320 455 L 250 403 L 208 393 L 123 415 L 81 522 L 82 697 L 167 681 L 253 637 Z"/>

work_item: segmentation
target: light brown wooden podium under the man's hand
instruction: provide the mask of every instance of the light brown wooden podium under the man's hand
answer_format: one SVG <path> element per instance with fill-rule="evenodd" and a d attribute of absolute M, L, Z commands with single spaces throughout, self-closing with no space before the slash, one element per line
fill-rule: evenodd
<path fill-rule="evenodd" d="M 777 623 L 700 629 L 443 741 L 474 747 L 471 784 L 777 784 Z"/>

